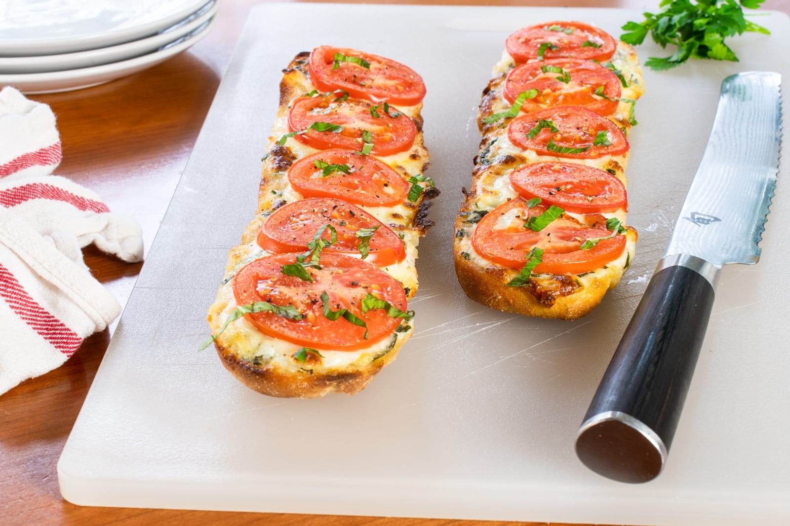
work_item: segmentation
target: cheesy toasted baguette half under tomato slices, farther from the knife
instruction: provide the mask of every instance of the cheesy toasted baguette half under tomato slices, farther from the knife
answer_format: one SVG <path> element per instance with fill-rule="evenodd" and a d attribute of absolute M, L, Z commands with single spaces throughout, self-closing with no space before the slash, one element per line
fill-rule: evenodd
<path fill-rule="evenodd" d="M 278 140 L 289 131 L 287 119 L 292 101 L 314 90 L 307 67 L 309 57 L 307 52 L 297 54 L 283 70 L 280 106 L 263 159 L 258 211 L 244 230 L 241 244 L 231 249 L 224 280 L 209 308 L 208 316 L 215 335 L 214 345 L 224 367 L 244 385 L 274 397 L 314 398 L 333 392 L 358 393 L 378 371 L 395 359 L 401 346 L 412 335 L 414 326 L 412 319 L 408 323 L 401 323 L 390 337 L 365 349 L 340 351 L 322 348 L 318 349 L 322 357 L 308 354 L 304 361 L 294 356 L 301 345 L 269 337 L 244 317 L 232 321 L 218 334 L 238 307 L 232 290 L 236 272 L 254 259 L 268 255 L 256 242 L 261 225 L 277 208 L 303 199 L 288 181 L 288 168 L 296 160 L 318 150 L 299 143 L 293 137 L 288 138 L 283 145 L 278 144 Z M 386 162 L 405 178 L 424 173 L 428 166 L 428 151 L 423 144 L 423 121 L 419 114 L 421 108 L 421 103 L 416 106 L 397 106 L 404 118 L 414 121 L 418 130 L 412 147 L 401 153 L 377 156 L 377 159 Z M 415 203 L 407 201 L 394 207 L 363 207 L 402 237 L 406 259 L 389 267 L 381 267 L 381 270 L 403 284 L 409 299 L 414 296 L 418 286 L 415 267 L 417 244 L 419 237 L 433 224 L 427 219 L 427 211 L 430 200 L 438 195 L 438 190 L 427 182 L 422 186 L 422 195 Z"/>

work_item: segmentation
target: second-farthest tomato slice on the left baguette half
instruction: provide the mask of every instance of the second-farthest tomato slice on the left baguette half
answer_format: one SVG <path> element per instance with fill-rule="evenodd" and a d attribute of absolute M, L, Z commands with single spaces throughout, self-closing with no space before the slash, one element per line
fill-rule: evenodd
<path fill-rule="evenodd" d="M 343 126 L 340 132 L 317 132 L 310 129 L 307 133 L 294 137 L 300 143 L 318 150 L 347 148 L 360 151 L 363 147 L 362 132 L 365 130 L 373 135 L 371 153 L 375 155 L 406 151 L 414 144 L 417 128 L 406 115 L 392 118 L 379 106 L 379 117 L 375 118 L 371 114 L 371 107 L 374 105 L 367 100 L 336 99 L 331 94 L 296 99 L 288 114 L 288 131 L 308 129 L 314 122 Z M 395 112 L 397 109 L 389 108 L 390 114 L 395 115 Z"/>

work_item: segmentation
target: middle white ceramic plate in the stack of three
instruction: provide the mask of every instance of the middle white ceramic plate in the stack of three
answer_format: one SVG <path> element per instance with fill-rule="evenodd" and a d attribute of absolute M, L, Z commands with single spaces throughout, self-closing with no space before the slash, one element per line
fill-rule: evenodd
<path fill-rule="evenodd" d="M 135 40 L 118 46 L 103 47 L 97 50 L 77 51 L 42 55 L 40 57 L 0 57 L 0 75 L 10 73 L 47 73 L 67 69 L 90 68 L 95 65 L 121 62 L 129 58 L 153 53 L 160 47 L 189 35 L 211 20 L 218 8 L 217 2 L 209 2 L 185 20 L 167 28 L 159 35 Z"/>

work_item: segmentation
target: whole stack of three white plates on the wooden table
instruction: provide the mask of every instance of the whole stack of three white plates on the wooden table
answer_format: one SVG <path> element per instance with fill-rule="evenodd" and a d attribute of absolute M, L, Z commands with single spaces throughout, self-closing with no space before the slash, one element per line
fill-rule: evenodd
<path fill-rule="evenodd" d="M 0 87 L 88 88 L 164 62 L 214 25 L 219 0 L 4 0 Z"/>

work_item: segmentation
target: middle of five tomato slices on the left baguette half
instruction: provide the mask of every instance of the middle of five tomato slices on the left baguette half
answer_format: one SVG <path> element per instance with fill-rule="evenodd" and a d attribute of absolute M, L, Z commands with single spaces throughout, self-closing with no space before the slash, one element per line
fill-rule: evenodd
<path fill-rule="evenodd" d="M 337 170 L 322 177 L 315 161 L 344 164 L 351 173 Z M 403 203 L 411 185 L 384 162 L 348 150 L 325 150 L 294 162 L 288 181 L 305 197 L 339 197 L 363 207 L 392 207 Z"/>

